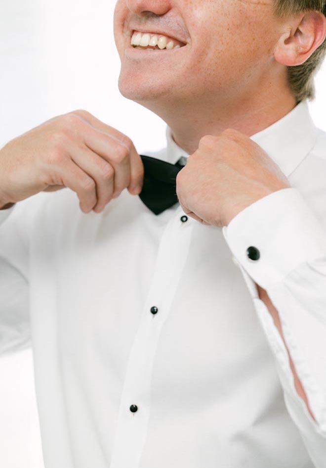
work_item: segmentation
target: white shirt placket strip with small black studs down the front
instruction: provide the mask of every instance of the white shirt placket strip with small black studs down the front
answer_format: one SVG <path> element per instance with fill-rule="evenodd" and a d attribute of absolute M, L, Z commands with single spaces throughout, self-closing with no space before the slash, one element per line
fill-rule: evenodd
<path fill-rule="evenodd" d="M 188 257 L 193 221 L 178 207 L 163 232 L 128 359 L 110 468 L 139 466 L 150 419 L 153 363 Z"/>

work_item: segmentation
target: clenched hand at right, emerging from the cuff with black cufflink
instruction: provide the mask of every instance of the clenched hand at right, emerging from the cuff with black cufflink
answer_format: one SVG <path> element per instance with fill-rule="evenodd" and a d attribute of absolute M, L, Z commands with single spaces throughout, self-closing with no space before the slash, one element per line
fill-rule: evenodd
<path fill-rule="evenodd" d="M 183 211 L 205 226 L 227 226 L 260 198 L 290 187 L 281 169 L 249 137 L 232 129 L 205 136 L 176 179 Z"/>

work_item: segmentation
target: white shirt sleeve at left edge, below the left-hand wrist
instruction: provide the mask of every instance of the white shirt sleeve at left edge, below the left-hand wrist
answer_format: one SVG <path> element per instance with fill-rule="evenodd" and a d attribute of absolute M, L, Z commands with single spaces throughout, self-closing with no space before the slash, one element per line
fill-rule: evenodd
<path fill-rule="evenodd" d="M 19 233 L 22 207 L 0 210 L 0 355 L 30 346 L 28 251 Z"/>

